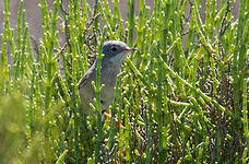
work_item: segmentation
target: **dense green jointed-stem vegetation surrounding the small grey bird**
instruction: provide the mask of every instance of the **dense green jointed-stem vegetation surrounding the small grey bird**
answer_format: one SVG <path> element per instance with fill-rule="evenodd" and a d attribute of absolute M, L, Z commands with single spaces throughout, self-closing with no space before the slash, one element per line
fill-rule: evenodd
<path fill-rule="evenodd" d="M 36 57 L 23 0 L 16 35 L 10 2 L 4 0 L 0 36 L 0 163 L 248 163 L 247 0 L 240 0 L 237 20 L 235 0 L 218 7 L 206 0 L 204 21 L 201 0 L 155 0 L 153 9 L 140 0 L 138 16 L 135 1 L 128 0 L 127 21 L 119 0 L 112 11 L 107 0 L 94 9 L 86 0 L 70 0 L 68 12 L 60 0 L 52 11 L 40 0 Z M 59 19 L 67 36 L 62 46 Z M 122 128 L 102 122 L 99 73 L 93 83 L 97 116 L 85 118 L 79 97 L 90 55 L 100 63 L 107 39 L 139 49 L 126 60 L 108 110 Z"/>

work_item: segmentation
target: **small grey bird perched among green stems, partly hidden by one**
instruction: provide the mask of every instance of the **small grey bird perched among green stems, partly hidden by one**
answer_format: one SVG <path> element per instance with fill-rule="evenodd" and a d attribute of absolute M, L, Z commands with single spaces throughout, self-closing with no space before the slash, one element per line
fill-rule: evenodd
<path fill-rule="evenodd" d="M 116 79 L 120 72 L 121 63 L 129 52 L 135 49 L 130 48 L 127 44 L 118 40 L 105 42 L 102 52 L 105 55 L 102 60 L 100 83 L 105 84 L 100 93 L 102 110 L 106 109 L 114 101 L 114 87 Z M 96 82 L 97 61 L 86 71 L 80 80 L 79 93 L 83 105 L 83 113 L 86 115 L 94 114 L 90 108 L 90 103 L 94 104 L 95 91 L 92 81 Z"/>

